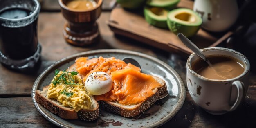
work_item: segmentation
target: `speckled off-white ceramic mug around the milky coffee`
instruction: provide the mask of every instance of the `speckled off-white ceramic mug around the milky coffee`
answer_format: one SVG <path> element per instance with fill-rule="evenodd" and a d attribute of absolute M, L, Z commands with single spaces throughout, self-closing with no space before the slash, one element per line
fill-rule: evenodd
<path fill-rule="evenodd" d="M 207 112 L 213 115 L 221 115 L 235 110 L 245 98 L 248 90 L 250 63 L 241 53 L 232 49 L 211 47 L 201 49 L 206 56 L 230 56 L 238 59 L 244 66 L 244 72 L 239 76 L 216 80 L 200 76 L 192 69 L 192 64 L 199 59 L 195 53 L 187 60 L 187 86 L 192 99 Z"/>

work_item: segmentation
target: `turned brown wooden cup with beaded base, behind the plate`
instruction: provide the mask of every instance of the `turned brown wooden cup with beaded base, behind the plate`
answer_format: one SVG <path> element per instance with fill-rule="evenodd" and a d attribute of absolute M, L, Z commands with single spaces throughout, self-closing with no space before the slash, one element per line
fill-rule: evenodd
<path fill-rule="evenodd" d="M 69 0 L 58 0 L 63 17 L 67 20 L 63 36 L 71 45 L 85 47 L 99 41 L 99 29 L 96 20 L 101 15 L 103 0 L 94 0 L 96 7 L 78 11 L 67 7 Z"/>

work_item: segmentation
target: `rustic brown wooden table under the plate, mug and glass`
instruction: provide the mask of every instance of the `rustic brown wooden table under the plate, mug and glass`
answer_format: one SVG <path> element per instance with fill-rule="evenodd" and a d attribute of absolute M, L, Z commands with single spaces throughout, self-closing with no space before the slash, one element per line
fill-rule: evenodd
<path fill-rule="evenodd" d="M 106 6 L 106 5 L 105 5 Z M 105 9 L 108 10 L 108 9 Z M 101 40 L 91 47 L 74 47 L 65 43 L 62 35 L 64 18 L 60 12 L 41 12 L 38 22 L 38 40 L 42 45 L 41 65 L 32 74 L 7 70 L 0 65 L 0 127 L 56 127 L 47 121 L 34 107 L 31 88 L 37 76 L 46 67 L 61 58 L 93 49 L 126 49 L 157 57 L 168 63 L 186 81 L 186 58 L 174 53 L 162 52 L 135 40 L 115 36 L 106 25 L 110 11 L 101 13 L 98 25 Z M 181 110 L 162 127 L 250 127 L 256 120 L 256 79 L 251 74 L 246 99 L 234 112 L 210 115 L 197 106 L 186 93 Z M 186 85 L 186 83 L 185 83 Z"/>

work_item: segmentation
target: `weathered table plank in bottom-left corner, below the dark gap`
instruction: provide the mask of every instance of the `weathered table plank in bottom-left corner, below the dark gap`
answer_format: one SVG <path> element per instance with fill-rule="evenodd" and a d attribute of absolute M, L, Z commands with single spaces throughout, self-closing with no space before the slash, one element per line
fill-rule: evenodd
<path fill-rule="evenodd" d="M 31 97 L 0 98 L 0 128 L 54 128 L 34 106 Z"/>

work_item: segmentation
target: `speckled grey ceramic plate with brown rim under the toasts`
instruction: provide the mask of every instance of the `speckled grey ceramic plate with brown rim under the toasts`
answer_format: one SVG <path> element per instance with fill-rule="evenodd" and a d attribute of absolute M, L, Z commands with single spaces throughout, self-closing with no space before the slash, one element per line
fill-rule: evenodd
<path fill-rule="evenodd" d="M 38 103 L 35 100 L 35 91 L 42 90 L 46 85 L 49 85 L 50 81 L 54 77 L 54 70 L 66 69 L 72 65 L 79 56 L 88 56 L 89 58 L 95 58 L 99 56 L 111 57 L 122 59 L 124 57 L 132 57 L 137 60 L 143 72 L 146 74 L 151 74 L 158 76 L 166 82 L 168 87 L 168 97 L 158 100 L 153 106 L 148 110 L 143 112 L 141 115 L 138 115 L 134 118 L 125 118 L 110 112 L 100 110 L 100 115 L 96 121 L 81 121 L 77 120 L 68 120 L 62 119 L 57 115 L 52 114 Z M 157 58 L 148 56 L 146 54 L 141 54 L 138 52 L 118 50 L 118 49 L 103 49 L 103 50 L 94 50 L 88 52 L 82 52 L 72 56 L 57 61 L 53 65 L 49 66 L 44 72 L 42 72 L 36 79 L 33 88 L 32 88 L 32 99 L 36 109 L 50 122 L 61 126 L 64 128 L 82 128 L 82 127 L 157 127 L 169 121 L 182 107 L 185 100 L 186 90 L 182 79 L 179 74 L 173 68 L 168 66 L 166 63 L 160 61 Z"/>

